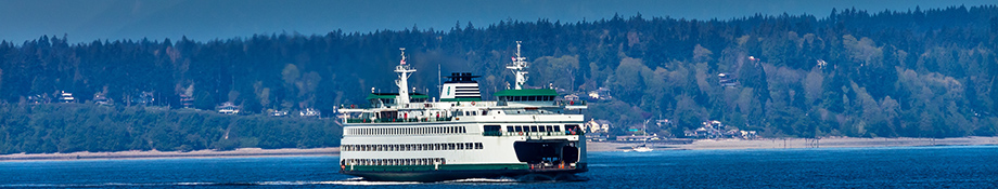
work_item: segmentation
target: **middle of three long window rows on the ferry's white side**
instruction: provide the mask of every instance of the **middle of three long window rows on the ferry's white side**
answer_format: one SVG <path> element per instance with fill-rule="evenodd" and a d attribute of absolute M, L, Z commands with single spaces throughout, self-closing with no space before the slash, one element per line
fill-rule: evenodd
<path fill-rule="evenodd" d="M 430 151 L 482 149 L 482 143 L 399 144 L 399 145 L 343 145 L 342 151 Z"/>

